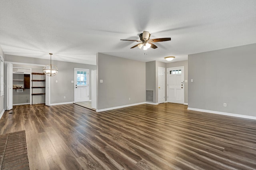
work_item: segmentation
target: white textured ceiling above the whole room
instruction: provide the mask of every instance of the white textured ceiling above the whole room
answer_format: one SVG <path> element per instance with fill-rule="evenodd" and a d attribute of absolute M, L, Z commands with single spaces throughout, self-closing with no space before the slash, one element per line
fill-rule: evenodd
<path fill-rule="evenodd" d="M 138 47 L 150 38 L 172 38 Z M 138 61 L 256 43 L 256 0 L 1 0 L 5 54 L 96 65 L 101 52 Z"/>

